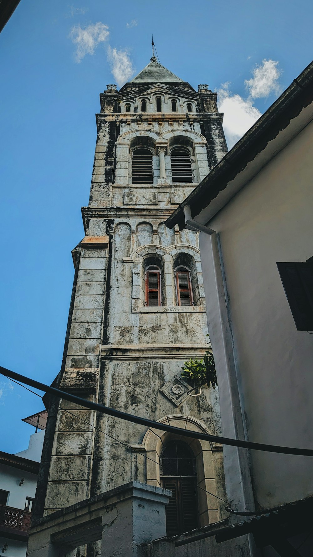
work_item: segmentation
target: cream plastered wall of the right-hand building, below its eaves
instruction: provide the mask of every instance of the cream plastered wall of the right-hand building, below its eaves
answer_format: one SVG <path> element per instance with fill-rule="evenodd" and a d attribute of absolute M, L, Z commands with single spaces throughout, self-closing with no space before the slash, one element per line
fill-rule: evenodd
<path fill-rule="evenodd" d="M 248 439 L 313 447 L 313 336 L 297 331 L 276 262 L 306 261 L 312 245 L 312 143 L 310 123 L 251 180 L 208 226 L 218 233 L 229 322 Z M 209 238 L 200 234 L 208 326 L 216 361 L 219 316 Z M 225 370 L 218 368 L 220 398 Z M 227 389 L 225 389 L 227 392 Z M 231 414 L 223 433 L 233 428 Z M 256 503 L 262 507 L 313 494 L 309 457 L 251 452 Z M 237 470 L 227 469 L 229 484 Z M 239 508 L 239 507 L 238 507 Z"/>

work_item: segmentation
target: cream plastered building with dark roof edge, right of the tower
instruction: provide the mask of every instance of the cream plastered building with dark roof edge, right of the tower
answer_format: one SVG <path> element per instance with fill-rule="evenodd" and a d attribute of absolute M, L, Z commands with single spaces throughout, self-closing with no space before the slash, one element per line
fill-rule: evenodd
<path fill-rule="evenodd" d="M 226 437 L 313 448 L 312 120 L 313 63 L 165 223 L 202 231 Z M 312 465 L 307 456 L 225 446 L 228 500 L 242 511 L 298 501 L 299 514 L 311 502 L 303 500 L 313 494 Z M 298 526 L 290 519 L 278 536 L 291 553 L 271 536 L 257 543 L 305 555 L 309 539 L 298 553 L 286 541 Z"/>

